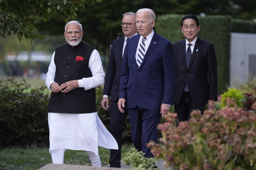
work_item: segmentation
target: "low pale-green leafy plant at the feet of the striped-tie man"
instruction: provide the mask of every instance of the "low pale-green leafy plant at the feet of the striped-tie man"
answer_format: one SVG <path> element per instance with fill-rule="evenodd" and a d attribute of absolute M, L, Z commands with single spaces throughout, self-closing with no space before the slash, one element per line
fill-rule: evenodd
<path fill-rule="evenodd" d="M 145 153 L 132 148 L 131 151 L 124 153 L 124 158 L 122 159 L 126 165 L 130 165 L 131 168 L 139 170 L 156 170 L 154 168 L 154 158 L 144 157 Z"/>

